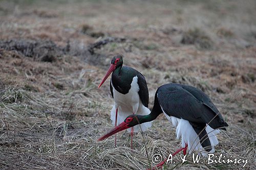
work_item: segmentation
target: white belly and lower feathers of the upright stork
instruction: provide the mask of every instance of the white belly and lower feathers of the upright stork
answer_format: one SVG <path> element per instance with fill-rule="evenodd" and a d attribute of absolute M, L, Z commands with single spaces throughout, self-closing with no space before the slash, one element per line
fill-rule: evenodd
<path fill-rule="evenodd" d="M 115 125 L 115 116 L 116 116 L 116 108 L 118 108 L 117 114 L 117 125 L 123 122 L 123 120 L 131 115 L 131 114 L 139 114 L 139 115 L 147 115 L 150 114 L 150 109 L 146 108 L 139 97 L 139 85 L 138 85 L 138 77 L 134 77 L 131 83 L 131 89 L 128 93 L 122 94 L 118 92 L 113 84 L 113 96 L 114 96 L 114 106 L 111 110 L 111 120 L 112 124 Z M 145 131 L 147 128 L 151 127 L 151 122 L 147 122 L 141 125 L 134 126 L 134 132 L 138 132 L 140 127 L 142 131 Z M 127 129 L 127 131 L 131 131 L 131 128 Z"/>

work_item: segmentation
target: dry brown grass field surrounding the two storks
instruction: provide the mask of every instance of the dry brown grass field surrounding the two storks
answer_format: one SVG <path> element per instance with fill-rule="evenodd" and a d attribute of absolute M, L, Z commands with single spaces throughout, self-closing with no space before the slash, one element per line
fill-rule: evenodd
<path fill-rule="evenodd" d="M 0 1 L 0 169 L 146 169 L 180 148 L 160 115 L 147 132 L 113 128 L 116 53 L 145 76 L 152 109 L 162 84 L 195 86 L 229 124 L 216 154 L 256 154 L 256 1 Z M 147 153 L 150 160 L 147 159 Z M 242 169 L 242 164 L 165 169 Z M 191 159 L 190 159 L 191 160 Z M 202 158 L 202 160 L 206 160 Z"/>

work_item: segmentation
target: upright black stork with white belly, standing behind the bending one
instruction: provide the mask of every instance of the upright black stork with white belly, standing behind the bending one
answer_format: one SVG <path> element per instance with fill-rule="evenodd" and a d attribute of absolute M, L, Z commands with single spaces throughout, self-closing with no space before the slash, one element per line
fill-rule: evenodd
<path fill-rule="evenodd" d="M 112 73 L 110 91 L 114 98 L 114 105 L 111 110 L 112 124 L 119 125 L 131 113 L 147 115 L 150 113 L 148 106 L 148 89 L 144 76 L 134 68 L 123 65 L 123 57 L 115 55 L 112 58 L 110 68 L 98 88 Z M 151 122 L 141 125 L 142 131 L 151 127 Z M 127 131 L 131 132 L 131 148 L 133 147 L 133 133 L 140 130 L 139 126 L 133 126 Z M 115 135 L 116 146 L 116 135 Z"/>

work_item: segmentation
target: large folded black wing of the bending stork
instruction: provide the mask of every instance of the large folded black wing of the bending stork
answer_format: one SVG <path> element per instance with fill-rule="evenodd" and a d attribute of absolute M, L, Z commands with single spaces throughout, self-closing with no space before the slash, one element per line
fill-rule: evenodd
<path fill-rule="evenodd" d="M 195 87 L 171 83 L 159 87 L 157 93 L 160 106 L 169 116 L 206 123 L 213 129 L 228 126 L 209 97 Z"/>

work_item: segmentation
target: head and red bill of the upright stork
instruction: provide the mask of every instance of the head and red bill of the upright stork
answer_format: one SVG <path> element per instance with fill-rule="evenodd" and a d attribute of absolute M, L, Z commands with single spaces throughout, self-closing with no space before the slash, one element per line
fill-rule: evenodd
<path fill-rule="evenodd" d="M 108 79 L 108 77 L 110 76 L 110 74 L 118 67 L 121 67 L 123 65 L 123 57 L 120 54 L 115 55 L 112 60 L 111 60 L 111 64 L 110 64 L 110 68 L 108 70 L 108 72 L 106 72 L 106 75 L 104 76 L 104 78 L 102 79 L 101 83 L 99 84 L 98 88 L 100 88 L 100 86 L 106 81 L 106 79 Z"/>

